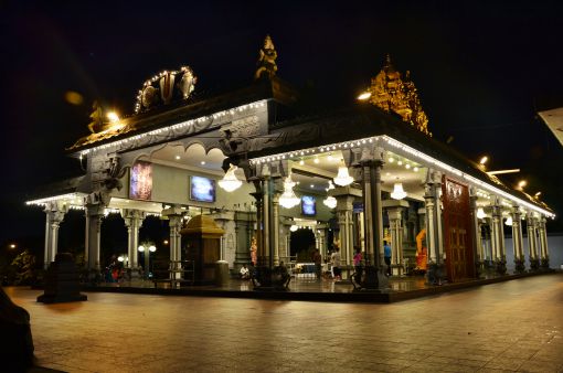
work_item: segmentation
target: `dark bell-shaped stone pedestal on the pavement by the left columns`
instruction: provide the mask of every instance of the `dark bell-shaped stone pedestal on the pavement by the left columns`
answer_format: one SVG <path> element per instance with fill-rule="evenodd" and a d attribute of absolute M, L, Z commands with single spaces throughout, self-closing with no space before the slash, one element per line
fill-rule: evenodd
<path fill-rule="evenodd" d="M 59 303 L 82 301 L 88 298 L 79 294 L 78 273 L 72 254 L 56 254 L 55 262 L 45 274 L 45 292 L 38 297 L 39 302 Z"/>

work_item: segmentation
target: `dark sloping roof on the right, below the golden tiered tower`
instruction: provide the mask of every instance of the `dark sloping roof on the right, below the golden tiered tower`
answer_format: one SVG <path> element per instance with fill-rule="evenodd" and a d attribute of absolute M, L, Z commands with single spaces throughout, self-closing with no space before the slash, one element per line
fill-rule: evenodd
<path fill-rule="evenodd" d="M 278 121 L 270 128 L 269 137 L 287 140 L 282 146 L 280 141 L 273 141 L 272 147 L 268 143 L 261 143 L 259 148 L 248 152 L 248 158 L 374 136 L 387 136 L 516 198 L 552 211 L 545 203 L 527 193 L 513 190 L 496 175 L 488 174 L 479 168 L 477 162 L 468 159 L 458 150 L 417 130 L 402 120 L 400 115 L 385 113 L 373 105 L 359 104 L 342 109 L 323 110 L 317 115 Z"/>

